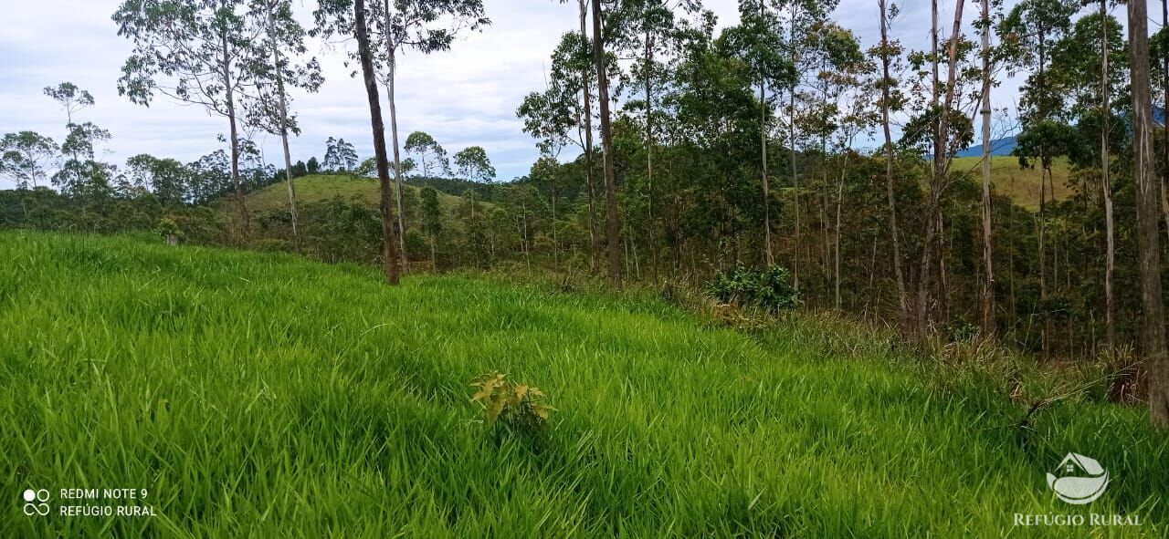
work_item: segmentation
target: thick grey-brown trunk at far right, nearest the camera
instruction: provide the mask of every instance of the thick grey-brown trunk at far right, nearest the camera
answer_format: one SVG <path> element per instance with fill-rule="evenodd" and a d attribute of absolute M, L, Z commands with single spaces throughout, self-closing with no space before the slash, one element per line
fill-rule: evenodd
<path fill-rule="evenodd" d="M 1149 416 L 1169 427 L 1169 352 L 1161 294 L 1158 184 L 1153 156 L 1153 96 L 1149 82 L 1149 20 L 1143 1 L 1128 2 L 1128 43 L 1133 84 L 1133 153 L 1136 161 L 1136 237 L 1140 246 L 1142 344 L 1149 370 Z"/>

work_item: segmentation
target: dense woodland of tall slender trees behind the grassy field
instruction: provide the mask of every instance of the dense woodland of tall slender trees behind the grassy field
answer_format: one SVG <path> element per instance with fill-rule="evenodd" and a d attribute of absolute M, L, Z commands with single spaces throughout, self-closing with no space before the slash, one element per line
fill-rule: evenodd
<path fill-rule="evenodd" d="M 618 288 L 782 266 L 803 308 L 908 340 L 1136 358 L 1122 366 L 1169 422 L 1165 0 L 934 0 L 932 21 L 874 0 L 876 40 L 833 22 L 833 0 L 740 0 L 732 27 L 699 0 L 568 4 L 547 86 L 516 104 L 541 158 L 497 182 L 482 147 L 449 155 L 400 133 L 395 108 L 396 60 L 490 32 L 483 0 L 319 0 L 311 20 L 288 0 L 127 0 L 113 14 L 134 46 L 119 93 L 205 107 L 222 148 L 105 162 L 111 133 L 85 121 L 99 104 L 46 88 L 68 135 L 4 136 L 16 189 L 0 191 L 0 226 L 296 251 L 379 264 L 390 284 L 523 264 Z M 929 47 L 902 47 L 899 27 L 933 28 Z M 330 138 L 320 160 L 292 160 L 293 98 L 324 84 L 310 37 L 360 71 L 367 100 L 352 106 L 369 110 L 374 156 Z M 996 96 L 1008 77 L 1023 80 L 1017 104 Z M 262 155 L 260 133 L 282 136 L 283 155 Z M 989 159 L 953 166 L 1004 135 L 1044 178 L 1037 209 L 992 182 Z M 376 203 L 298 200 L 297 180 L 323 174 L 366 178 Z M 248 206 L 265 189 L 286 191 L 282 208 Z"/>

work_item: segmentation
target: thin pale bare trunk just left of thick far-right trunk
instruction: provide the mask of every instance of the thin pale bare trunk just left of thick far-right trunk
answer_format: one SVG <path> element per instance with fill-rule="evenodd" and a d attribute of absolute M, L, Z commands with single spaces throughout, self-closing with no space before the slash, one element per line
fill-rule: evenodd
<path fill-rule="evenodd" d="M 1102 63 L 1100 64 L 1100 189 L 1104 194 L 1105 235 L 1107 237 L 1107 253 L 1105 254 L 1105 331 L 1108 338 L 1108 351 L 1116 349 L 1116 298 L 1113 290 L 1114 276 L 1116 273 L 1116 233 L 1112 216 L 1112 178 L 1109 169 L 1112 158 L 1108 155 L 1108 140 L 1112 131 L 1112 104 L 1109 103 L 1111 84 L 1108 80 L 1108 0 L 1100 0 L 1100 52 Z"/>

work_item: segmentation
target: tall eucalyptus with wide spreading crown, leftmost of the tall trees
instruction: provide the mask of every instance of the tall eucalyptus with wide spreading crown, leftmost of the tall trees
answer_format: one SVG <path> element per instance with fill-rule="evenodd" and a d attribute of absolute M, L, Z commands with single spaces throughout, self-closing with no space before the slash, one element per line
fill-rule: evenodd
<path fill-rule="evenodd" d="M 247 232 L 250 216 L 240 180 L 241 98 L 253 86 L 247 58 L 260 30 L 248 28 L 244 0 L 125 0 L 113 14 L 133 43 L 118 93 L 150 106 L 155 93 L 202 106 L 228 120 L 231 182 Z"/>

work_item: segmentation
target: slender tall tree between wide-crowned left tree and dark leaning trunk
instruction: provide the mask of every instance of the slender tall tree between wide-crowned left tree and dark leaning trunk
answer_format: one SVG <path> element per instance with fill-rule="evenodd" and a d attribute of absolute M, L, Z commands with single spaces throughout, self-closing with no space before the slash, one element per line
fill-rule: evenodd
<path fill-rule="evenodd" d="M 289 111 L 289 90 L 314 92 L 324 78 L 317 58 L 303 60 L 307 51 L 304 44 L 307 32 L 293 16 L 290 0 L 249 0 L 247 23 L 262 36 L 250 49 L 253 57 L 245 64 L 256 85 L 255 96 L 245 103 L 247 118 L 253 127 L 281 138 L 292 238 L 299 252 L 300 231 L 289 133 L 300 134 L 300 130 L 295 114 Z"/>

